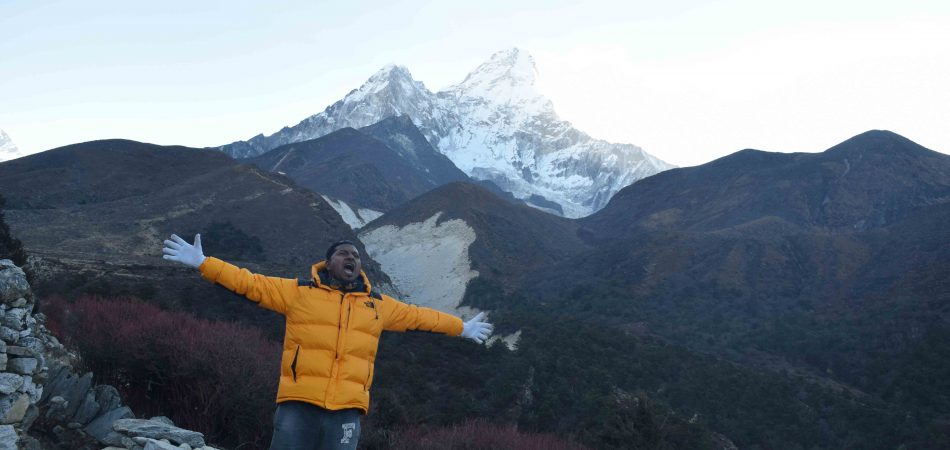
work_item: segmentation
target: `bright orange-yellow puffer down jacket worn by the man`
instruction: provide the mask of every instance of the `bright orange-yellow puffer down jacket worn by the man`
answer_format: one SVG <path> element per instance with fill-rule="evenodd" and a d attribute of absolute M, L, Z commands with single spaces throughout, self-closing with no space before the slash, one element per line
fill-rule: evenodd
<path fill-rule="evenodd" d="M 369 410 L 369 388 L 383 330 L 424 330 L 458 336 L 462 321 L 451 314 L 407 305 L 366 288 L 343 293 L 321 283 L 314 264 L 309 282 L 251 273 L 208 257 L 198 269 L 261 307 L 286 316 L 277 402 L 298 400 L 321 408 Z"/>

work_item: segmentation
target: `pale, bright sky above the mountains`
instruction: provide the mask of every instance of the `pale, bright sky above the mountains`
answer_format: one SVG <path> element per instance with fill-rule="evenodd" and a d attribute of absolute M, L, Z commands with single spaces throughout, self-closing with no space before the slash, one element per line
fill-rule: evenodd
<path fill-rule="evenodd" d="M 593 137 L 679 166 L 871 129 L 950 153 L 950 2 L 0 1 L 0 129 L 217 146 L 323 111 L 383 66 L 430 90 L 493 53 Z"/>

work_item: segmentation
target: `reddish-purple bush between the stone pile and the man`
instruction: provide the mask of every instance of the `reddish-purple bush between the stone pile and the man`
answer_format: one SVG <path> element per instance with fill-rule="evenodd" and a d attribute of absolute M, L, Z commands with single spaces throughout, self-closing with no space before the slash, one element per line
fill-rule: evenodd
<path fill-rule="evenodd" d="M 167 415 L 232 448 L 269 442 L 280 346 L 259 331 L 135 299 L 52 298 L 44 305 L 49 328 L 136 414 Z"/>

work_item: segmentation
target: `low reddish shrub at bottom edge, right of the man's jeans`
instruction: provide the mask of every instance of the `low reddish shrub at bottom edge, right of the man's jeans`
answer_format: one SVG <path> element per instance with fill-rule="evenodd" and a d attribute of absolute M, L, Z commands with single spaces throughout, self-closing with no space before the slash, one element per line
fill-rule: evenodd
<path fill-rule="evenodd" d="M 396 450 L 584 450 L 580 444 L 514 426 L 471 420 L 451 428 L 416 427 L 397 433 Z"/>

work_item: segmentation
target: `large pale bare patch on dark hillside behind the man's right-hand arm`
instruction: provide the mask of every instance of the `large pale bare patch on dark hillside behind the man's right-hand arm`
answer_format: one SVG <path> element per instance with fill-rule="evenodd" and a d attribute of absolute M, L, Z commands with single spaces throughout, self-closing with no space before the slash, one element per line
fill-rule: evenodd
<path fill-rule="evenodd" d="M 442 212 L 404 227 L 387 225 L 360 233 L 369 255 L 379 262 L 403 300 L 420 306 L 472 317 L 476 309 L 459 306 L 472 270 L 468 247 L 475 230 L 460 219 L 437 223 Z"/>

